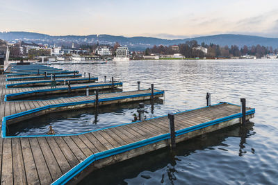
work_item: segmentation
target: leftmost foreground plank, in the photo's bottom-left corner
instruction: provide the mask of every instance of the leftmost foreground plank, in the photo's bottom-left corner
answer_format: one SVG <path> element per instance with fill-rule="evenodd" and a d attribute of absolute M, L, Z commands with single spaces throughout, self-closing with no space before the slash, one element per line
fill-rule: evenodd
<path fill-rule="evenodd" d="M 3 139 L 1 184 L 13 184 L 13 154 L 11 139 Z"/>

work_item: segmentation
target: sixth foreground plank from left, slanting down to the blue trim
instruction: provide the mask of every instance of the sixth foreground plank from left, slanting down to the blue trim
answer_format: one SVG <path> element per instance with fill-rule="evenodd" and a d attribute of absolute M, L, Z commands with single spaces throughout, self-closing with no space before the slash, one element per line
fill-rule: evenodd
<path fill-rule="evenodd" d="M 46 137 L 46 139 L 52 153 L 56 158 L 56 161 L 58 162 L 58 165 L 60 166 L 60 170 L 62 170 L 63 173 L 67 173 L 67 171 L 70 170 L 71 166 L 63 155 L 63 152 L 60 150 L 55 139 L 53 137 Z"/>

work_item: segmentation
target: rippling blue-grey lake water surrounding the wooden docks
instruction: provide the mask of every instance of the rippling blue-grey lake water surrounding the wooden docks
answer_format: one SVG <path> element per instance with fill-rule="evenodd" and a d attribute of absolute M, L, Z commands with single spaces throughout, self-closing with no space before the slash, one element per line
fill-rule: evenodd
<path fill-rule="evenodd" d="M 208 134 L 205 138 L 179 143 L 176 153 L 168 148 L 151 152 L 97 170 L 81 184 L 277 184 L 278 182 L 278 60 L 156 60 L 108 62 L 95 65 L 51 66 L 79 70 L 124 83 L 123 90 L 165 90 L 165 100 L 145 102 L 147 117 L 161 116 L 227 101 L 256 108 L 246 126 Z M 129 123 L 138 103 L 51 114 L 40 117 L 40 125 L 27 121 L 10 128 L 15 135 L 45 134 L 49 125 L 56 133 L 78 133 L 99 127 Z M 69 129 L 70 128 L 70 129 Z"/>

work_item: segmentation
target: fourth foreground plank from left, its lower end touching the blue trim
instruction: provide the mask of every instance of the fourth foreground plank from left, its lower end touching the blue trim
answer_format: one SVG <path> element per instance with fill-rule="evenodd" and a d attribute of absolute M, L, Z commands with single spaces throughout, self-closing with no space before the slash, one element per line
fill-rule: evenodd
<path fill-rule="evenodd" d="M 47 163 L 40 149 L 37 138 L 29 138 L 31 150 L 33 152 L 33 157 L 35 160 L 35 166 L 38 170 L 38 175 L 40 179 L 40 184 L 51 184 L 53 179 L 51 178 L 49 169 L 47 168 Z"/>

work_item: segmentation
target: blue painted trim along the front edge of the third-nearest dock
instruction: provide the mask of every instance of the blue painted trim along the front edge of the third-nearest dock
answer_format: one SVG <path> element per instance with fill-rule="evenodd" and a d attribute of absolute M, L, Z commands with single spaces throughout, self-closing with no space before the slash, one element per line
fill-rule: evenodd
<path fill-rule="evenodd" d="M 83 89 L 86 87 L 103 87 L 103 86 L 108 86 L 111 85 L 112 83 L 106 83 L 106 84 L 96 84 L 96 85 L 83 85 L 83 86 L 78 86 L 78 87 L 71 87 L 71 89 Z M 122 85 L 122 82 L 117 82 L 114 83 L 114 85 Z M 25 92 L 20 92 L 20 93 L 15 93 L 15 94 L 6 94 L 5 95 L 5 101 L 7 101 L 8 97 L 12 97 L 12 96 L 20 96 L 22 94 L 33 94 L 33 93 L 40 93 L 40 92 L 48 92 L 48 91 L 60 91 L 60 90 L 67 90 L 67 87 L 63 87 L 63 88 L 53 88 L 53 89 L 40 89 L 40 90 L 35 90 L 35 91 L 25 91 Z"/>

